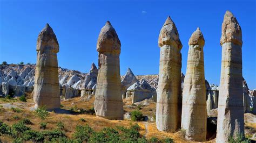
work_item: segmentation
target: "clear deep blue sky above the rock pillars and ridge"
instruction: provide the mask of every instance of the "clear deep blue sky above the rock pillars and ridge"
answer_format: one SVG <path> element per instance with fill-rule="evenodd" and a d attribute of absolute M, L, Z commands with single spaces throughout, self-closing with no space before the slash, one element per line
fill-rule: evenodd
<path fill-rule="evenodd" d="M 55 32 L 60 67 L 82 72 L 98 65 L 100 28 L 110 20 L 122 44 L 120 71 L 159 73 L 158 35 L 167 16 L 176 24 L 186 73 L 188 39 L 197 26 L 204 34 L 205 77 L 218 84 L 221 24 L 230 10 L 242 28 L 243 75 L 256 88 L 255 1 L 7 1 L 0 0 L 0 62 L 35 63 L 36 40 L 46 23 Z"/>

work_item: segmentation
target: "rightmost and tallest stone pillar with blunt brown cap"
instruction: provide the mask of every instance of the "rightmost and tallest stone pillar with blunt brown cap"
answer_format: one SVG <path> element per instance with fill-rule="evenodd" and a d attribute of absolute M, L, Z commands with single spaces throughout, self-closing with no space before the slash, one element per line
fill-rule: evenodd
<path fill-rule="evenodd" d="M 216 142 L 244 135 L 242 99 L 242 31 L 237 19 L 226 11 L 220 39 L 222 46 Z"/>

